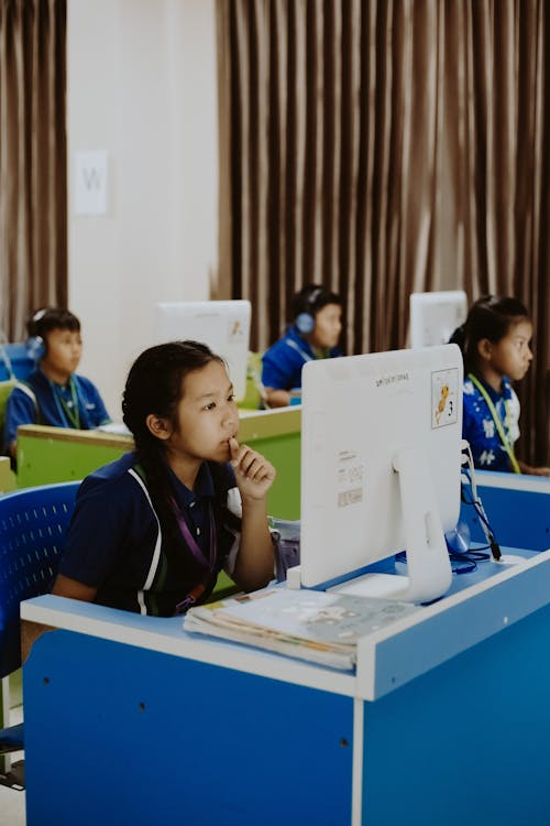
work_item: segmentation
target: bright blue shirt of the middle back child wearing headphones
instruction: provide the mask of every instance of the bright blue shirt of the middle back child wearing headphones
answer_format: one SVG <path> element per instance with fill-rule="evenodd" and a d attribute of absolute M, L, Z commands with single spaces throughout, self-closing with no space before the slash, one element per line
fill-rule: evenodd
<path fill-rule="evenodd" d="M 337 347 L 327 350 L 326 358 L 341 356 Z M 301 388 L 301 368 L 317 358 L 309 341 L 300 336 L 296 326 L 275 341 L 262 357 L 262 383 L 274 390 Z"/>

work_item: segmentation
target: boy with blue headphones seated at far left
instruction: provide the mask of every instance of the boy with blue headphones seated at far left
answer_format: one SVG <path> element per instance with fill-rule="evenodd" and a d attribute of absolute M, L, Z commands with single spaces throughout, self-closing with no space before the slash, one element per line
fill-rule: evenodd
<path fill-rule="evenodd" d="M 13 458 L 22 424 L 88 431 L 110 422 L 95 384 L 75 372 L 82 355 L 78 318 L 68 309 L 47 307 L 38 309 L 26 328 L 28 348 L 37 366 L 8 399 L 4 446 Z"/>

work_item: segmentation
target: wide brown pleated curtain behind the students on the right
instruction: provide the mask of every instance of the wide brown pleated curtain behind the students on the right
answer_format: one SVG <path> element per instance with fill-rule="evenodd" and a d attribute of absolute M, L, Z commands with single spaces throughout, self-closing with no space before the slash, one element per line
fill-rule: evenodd
<path fill-rule="evenodd" d="M 252 346 L 310 281 L 344 297 L 349 354 L 406 346 L 410 292 L 514 294 L 536 328 L 519 454 L 549 464 L 544 0 L 217 10 L 220 283 Z"/>

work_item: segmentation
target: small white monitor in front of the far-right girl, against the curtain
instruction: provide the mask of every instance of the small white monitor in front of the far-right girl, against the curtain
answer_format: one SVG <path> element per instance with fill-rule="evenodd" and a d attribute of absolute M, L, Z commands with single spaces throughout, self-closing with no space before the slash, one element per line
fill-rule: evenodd
<path fill-rule="evenodd" d="M 447 344 L 452 334 L 465 320 L 468 297 L 462 290 L 440 293 L 411 293 L 410 346 L 432 347 Z"/>

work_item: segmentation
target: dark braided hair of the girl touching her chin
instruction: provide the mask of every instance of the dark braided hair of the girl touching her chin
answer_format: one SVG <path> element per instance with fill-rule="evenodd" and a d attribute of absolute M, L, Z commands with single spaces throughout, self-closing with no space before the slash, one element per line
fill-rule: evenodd
<path fill-rule="evenodd" d="M 133 434 L 151 499 L 163 531 L 176 542 L 182 540 L 170 507 L 173 492 L 163 459 L 163 442 L 151 433 L 146 419 L 154 413 L 177 427 L 177 405 L 184 395 L 185 377 L 211 361 L 226 363 L 198 341 L 170 341 L 150 347 L 132 365 L 122 396 L 122 419 Z"/>

